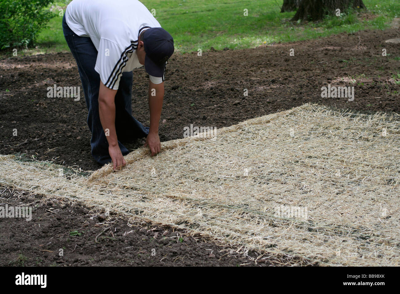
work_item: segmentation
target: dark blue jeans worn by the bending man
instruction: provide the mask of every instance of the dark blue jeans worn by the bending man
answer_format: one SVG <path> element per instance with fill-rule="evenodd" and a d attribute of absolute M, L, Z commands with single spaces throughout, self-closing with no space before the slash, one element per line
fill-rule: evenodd
<path fill-rule="evenodd" d="M 80 80 L 88 108 L 88 125 L 92 132 L 90 146 L 92 156 L 100 164 L 111 162 L 108 154 L 108 141 L 100 122 L 98 95 L 100 75 L 94 70 L 97 50 L 88 37 L 77 36 L 62 18 L 62 30 L 72 55 L 78 64 Z M 132 116 L 132 83 L 133 72 L 123 72 L 118 91 L 115 95 L 115 128 L 118 139 L 133 140 L 146 137 L 149 129 L 144 127 Z M 122 155 L 128 154 L 128 149 L 118 140 Z"/>

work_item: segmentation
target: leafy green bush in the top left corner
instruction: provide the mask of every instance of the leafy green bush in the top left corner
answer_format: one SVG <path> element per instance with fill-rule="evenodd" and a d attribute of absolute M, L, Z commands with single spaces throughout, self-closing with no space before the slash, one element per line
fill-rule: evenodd
<path fill-rule="evenodd" d="M 0 49 L 33 44 L 54 16 L 44 9 L 52 0 L 0 0 Z"/>

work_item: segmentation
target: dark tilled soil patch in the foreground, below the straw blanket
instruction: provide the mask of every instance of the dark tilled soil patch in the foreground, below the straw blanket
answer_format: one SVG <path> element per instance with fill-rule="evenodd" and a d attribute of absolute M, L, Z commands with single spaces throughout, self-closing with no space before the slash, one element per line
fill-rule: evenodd
<path fill-rule="evenodd" d="M 0 266 L 268 266 L 284 261 L 255 252 L 244 256 L 182 230 L 132 225 L 80 204 L 45 201 L 12 188 L 0 188 L 0 203 L 33 206 L 30 221 L 0 218 Z"/>

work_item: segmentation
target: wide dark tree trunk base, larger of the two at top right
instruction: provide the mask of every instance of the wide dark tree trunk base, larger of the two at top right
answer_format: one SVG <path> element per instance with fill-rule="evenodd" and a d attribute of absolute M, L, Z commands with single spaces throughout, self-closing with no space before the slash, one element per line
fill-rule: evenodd
<path fill-rule="evenodd" d="M 348 8 L 366 8 L 362 0 L 302 0 L 292 20 L 321 20 L 328 14 L 334 14 L 336 9 L 340 12 Z"/>

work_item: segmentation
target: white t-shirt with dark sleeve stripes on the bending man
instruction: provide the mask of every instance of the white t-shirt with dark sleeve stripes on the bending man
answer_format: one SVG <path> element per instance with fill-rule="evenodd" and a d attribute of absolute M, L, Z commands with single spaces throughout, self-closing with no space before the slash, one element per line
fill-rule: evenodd
<path fill-rule="evenodd" d="M 114 90 L 122 72 L 142 66 L 136 55 L 140 32 L 161 27 L 138 0 L 73 0 L 65 20 L 75 34 L 92 40 L 98 51 L 94 69 L 103 84 Z M 160 84 L 163 78 L 150 76 L 150 80 Z"/>

